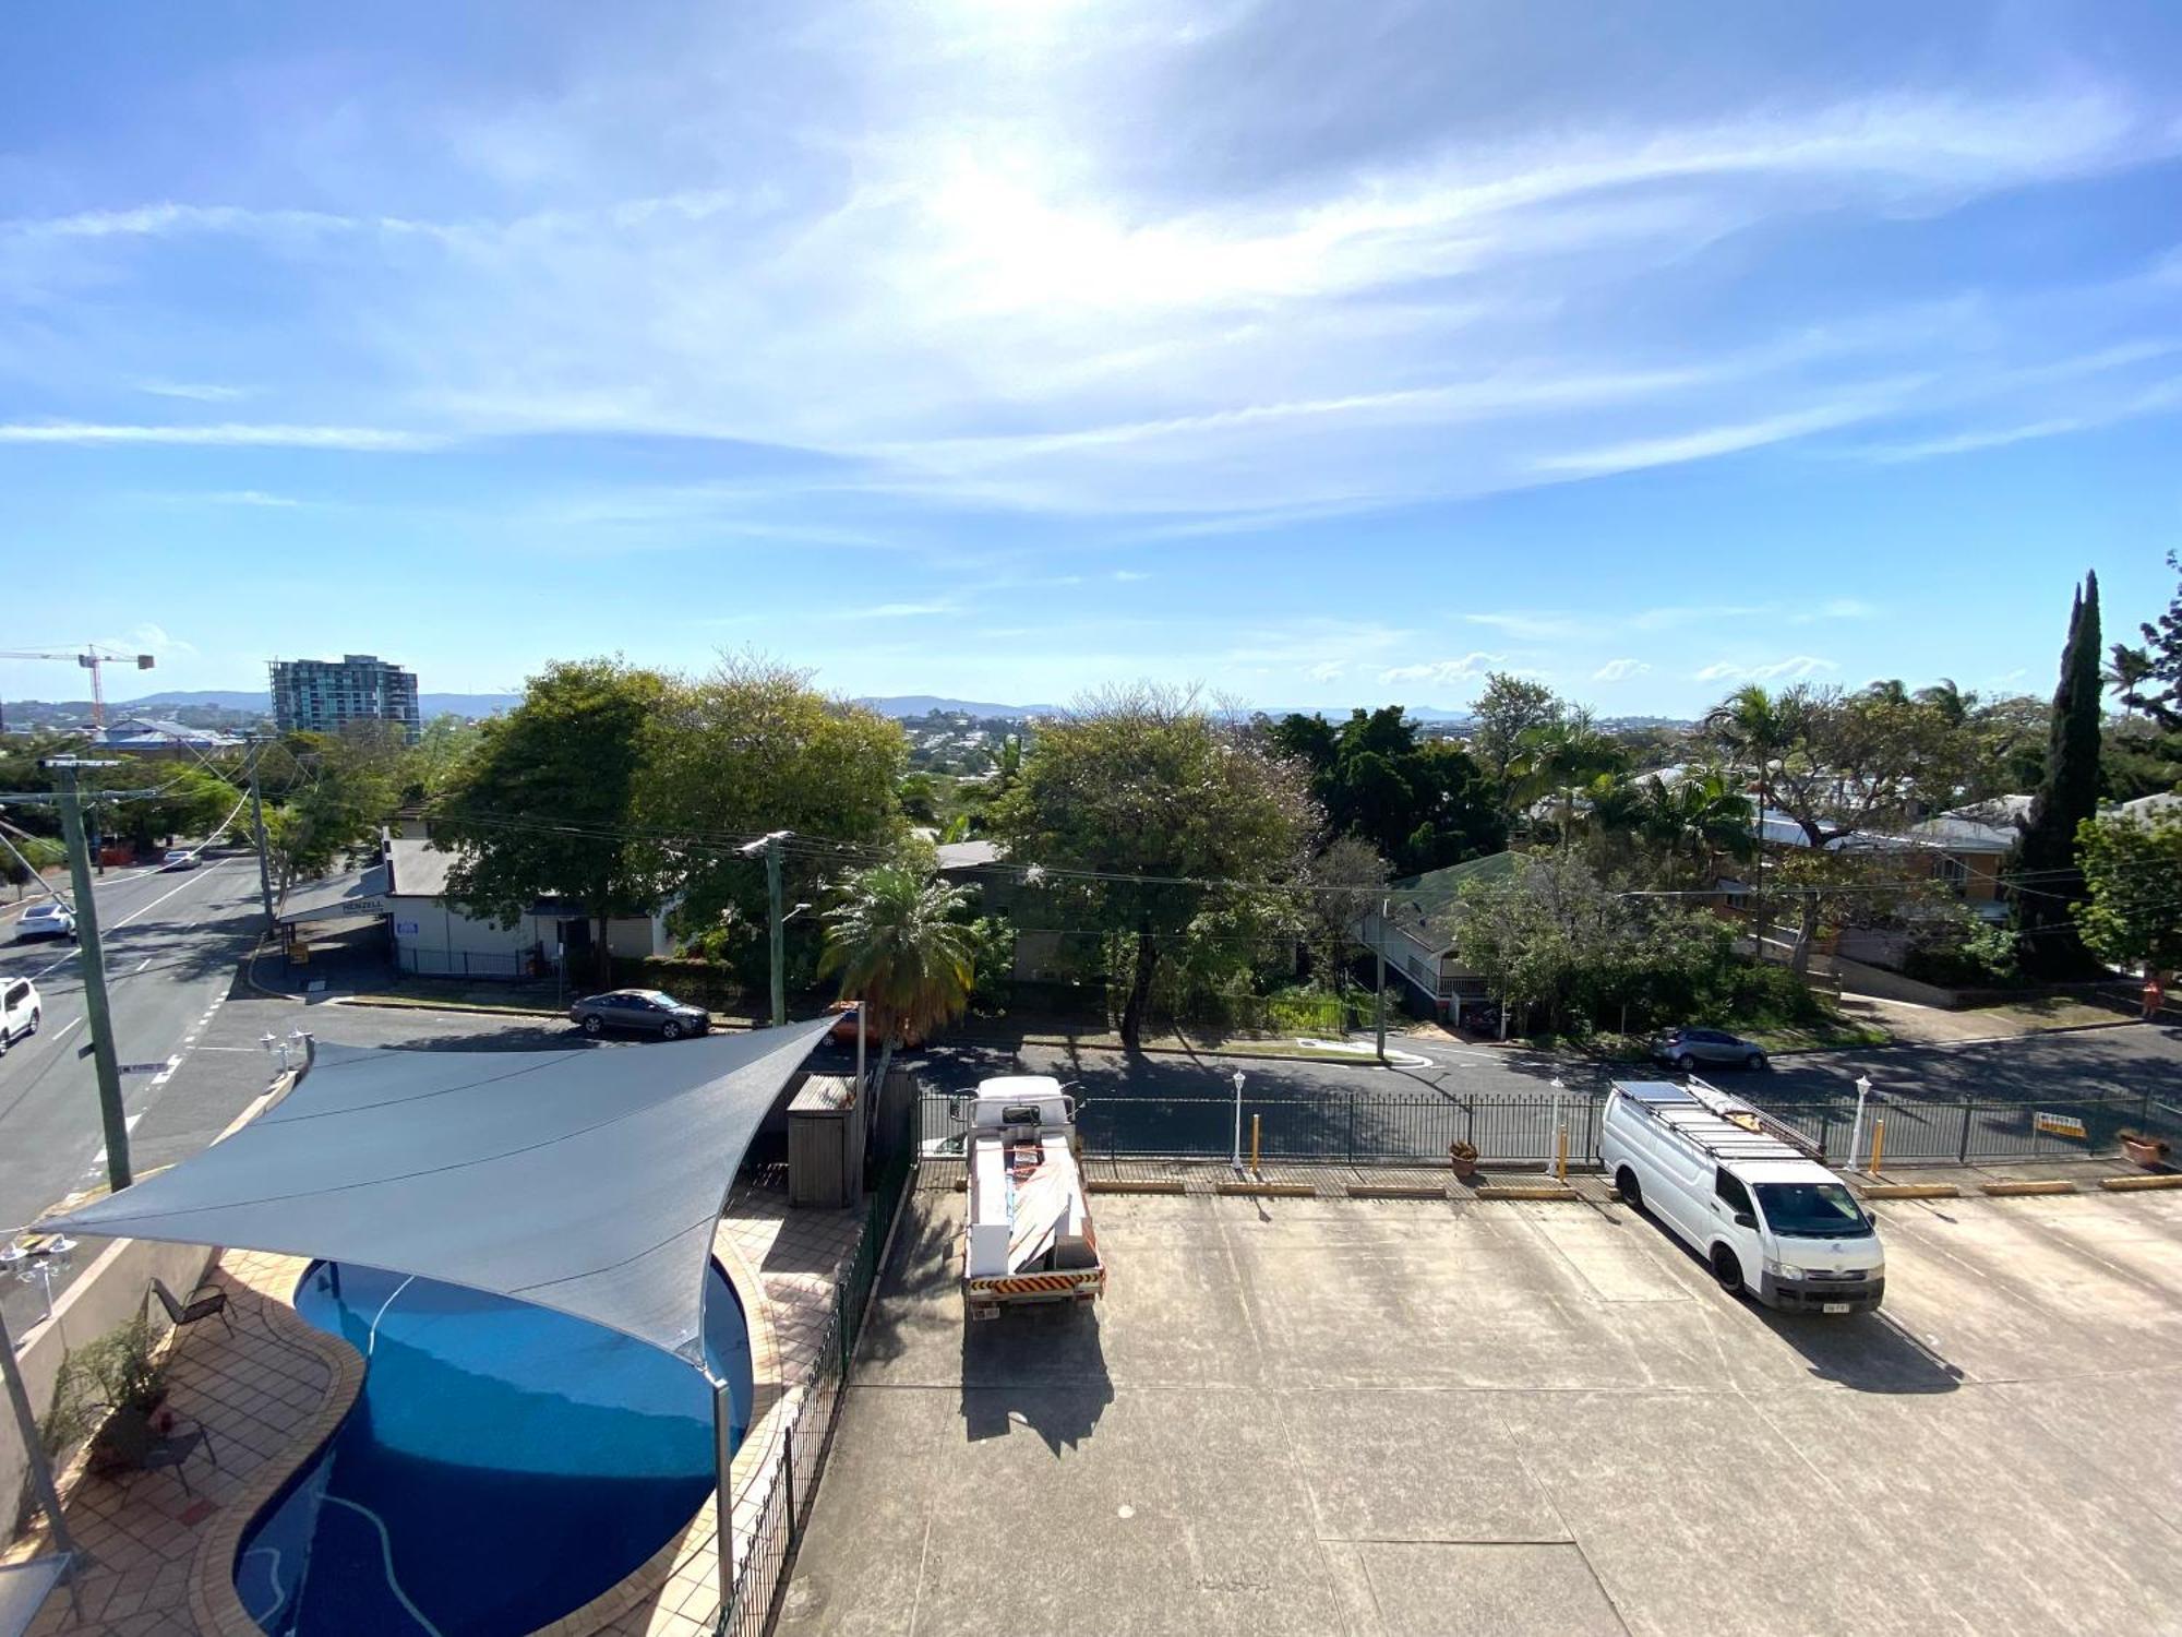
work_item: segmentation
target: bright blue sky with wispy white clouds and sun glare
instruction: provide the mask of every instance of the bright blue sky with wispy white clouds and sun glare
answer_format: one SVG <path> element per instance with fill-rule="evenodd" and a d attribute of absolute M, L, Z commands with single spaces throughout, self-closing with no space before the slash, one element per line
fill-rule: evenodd
<path fill-rule="evenodd" d="M 0 648 L 172 688 L 2045 690 L 2084 567 L 2165 605 L 2178 454 L 2169 4 L 118 4 L 0 61 Z"/>

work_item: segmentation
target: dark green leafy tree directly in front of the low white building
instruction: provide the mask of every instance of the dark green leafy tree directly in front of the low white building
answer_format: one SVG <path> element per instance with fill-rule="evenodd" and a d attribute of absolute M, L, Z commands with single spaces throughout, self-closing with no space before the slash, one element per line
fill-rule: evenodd
<path fill-rule="evenodd" d="M 432 812 L 434 838 L 458 853 L 447 895 L 508 928 L 541 897 L 576 899 L 596 928 L 596 976 L 609 982 L 607 923 L 652 912 L 670 877 L 661 847 L 635 829 L 668 694 L 666 677 L 620 659 L 532 677 L 515 709 L 484 722 Z"/>

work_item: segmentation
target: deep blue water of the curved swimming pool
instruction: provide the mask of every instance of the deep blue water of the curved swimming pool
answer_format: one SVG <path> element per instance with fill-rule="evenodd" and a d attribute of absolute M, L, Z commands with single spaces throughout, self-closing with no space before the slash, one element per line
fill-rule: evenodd
<path fill-rule="evenodd" d="M 711 1272 L 705 1349 L 751 1421 L 751 1345 Z M 236 1591 L 275 1637 L 506 1637 L 583 1606 L 711 1493 L 711 1388 L 567 1314 L 314 1264 L 295 1307 L 364 1355 L 356 1408 L 257 1515 Z"/>

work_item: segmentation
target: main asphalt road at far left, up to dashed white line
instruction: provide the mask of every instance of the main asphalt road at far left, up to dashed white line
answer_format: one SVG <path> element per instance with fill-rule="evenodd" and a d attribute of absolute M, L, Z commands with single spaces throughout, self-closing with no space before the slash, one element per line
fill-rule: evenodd
<path fill-rule="evenodd" d="M 257 867 L 223 858 L 194 871 L 109 871 L 94 893 L 116 1054 L 159 1065 L 122 1076 L 135 1124 L 233 987 L 260 925 Z M 13 936 L 13 915 L 0 936 Z M 28 976 L 44 1011 L 39 1032 L 0 1056 L 0 1229 L 105 1174 L 81 971 L 74 945 L 0 943 L 0 973 Z"/>

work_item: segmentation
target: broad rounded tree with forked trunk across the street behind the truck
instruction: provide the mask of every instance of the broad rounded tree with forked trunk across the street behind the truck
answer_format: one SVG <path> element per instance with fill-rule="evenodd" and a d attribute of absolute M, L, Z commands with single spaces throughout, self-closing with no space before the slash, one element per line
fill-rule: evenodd
<path fill-rule="evenodd" d="M 1292 886 L 1320 823 L 1300 762 L 1194 692 L 1150 683 L 1045 722 L 1015 788 L 993 803 L 1010 860 L 1100 877 L 1056 875 L 1054 888 L 1122 947 L 1130 1050 L 1167 945 L 1252 888 Z"/>

